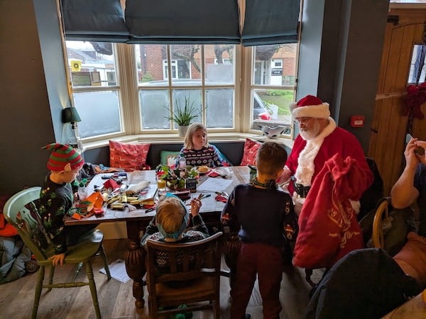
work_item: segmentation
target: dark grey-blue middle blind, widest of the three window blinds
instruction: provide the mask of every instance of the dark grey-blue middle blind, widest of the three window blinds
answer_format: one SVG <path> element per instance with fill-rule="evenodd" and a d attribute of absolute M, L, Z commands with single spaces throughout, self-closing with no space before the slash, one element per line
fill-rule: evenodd
<path fill-rule="evenodd" d="M 237 0 L 127 0 L 129 43 L 240 43 Z"/>

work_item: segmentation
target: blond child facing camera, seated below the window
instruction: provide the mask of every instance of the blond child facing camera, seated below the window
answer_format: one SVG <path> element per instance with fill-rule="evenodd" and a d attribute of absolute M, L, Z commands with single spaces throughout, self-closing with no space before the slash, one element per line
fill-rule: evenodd
<path fill-rule="evenodd" d="M 230 165 L 217 147 L 209 144 L 207 128 L 202 123 L 190 125 L 179 156 L 185 157 L 186 164 L 191 166 L 217 167 Z"/>

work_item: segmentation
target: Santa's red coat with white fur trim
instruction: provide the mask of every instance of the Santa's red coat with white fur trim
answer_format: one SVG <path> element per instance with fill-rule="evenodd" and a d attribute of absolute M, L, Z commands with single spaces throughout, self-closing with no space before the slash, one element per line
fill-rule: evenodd
<path fill-rule="evenodd" d="M 306 141 L 297 135 L 293 149 L 285 163 L 285 166 L 290 169 L 291 176 L 295 177 L 295 180 L 291 181 L 288 186 L 290 194 L 295 191 L 294 183 L 311 186 L 327 159 L 336 154 L 343 159 L 349 156 L 358 162 L 361 170 L 365 171 L 366 188 L 373 182 L 373 174 L 368 167 L 359 141 L 347 130 L 337 127 L 334 120 L 329 118 L 327 127 L 312 140 Z"/>

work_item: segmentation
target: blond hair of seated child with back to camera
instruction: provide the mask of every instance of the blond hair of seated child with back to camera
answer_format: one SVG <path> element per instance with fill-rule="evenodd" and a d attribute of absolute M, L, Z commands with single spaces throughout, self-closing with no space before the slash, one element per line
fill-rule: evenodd
<path fill-rule="evenodd" d="M 157 206 L 156 223 L 160 223 L 166 233 L 175 233 L 180 229 L 186 211 L 176 197 L 165 197 Z"/>

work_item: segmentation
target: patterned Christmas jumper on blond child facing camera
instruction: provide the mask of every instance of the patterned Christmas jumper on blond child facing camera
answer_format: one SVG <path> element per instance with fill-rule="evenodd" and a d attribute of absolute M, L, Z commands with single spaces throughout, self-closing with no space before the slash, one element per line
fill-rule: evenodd
<path fill-rule="evenodd" d="M 224 166 L 226 163 L 222 157 L 221 152 L 219 152 L 217 147 L 214 145 L 203 147 L 201 150 L 193 150 L 182 147 L 179 156 L 185 157 L 187 165 L 191 166 L 206 165 L 208 167 L 217 167 Z"/>

